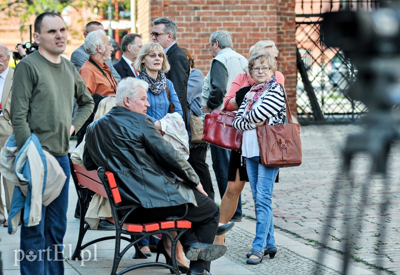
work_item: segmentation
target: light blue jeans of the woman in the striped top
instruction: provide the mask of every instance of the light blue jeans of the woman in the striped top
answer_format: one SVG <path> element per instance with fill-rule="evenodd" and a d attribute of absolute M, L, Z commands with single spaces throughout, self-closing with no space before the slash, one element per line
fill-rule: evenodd
<path fill-rule="evenodd" d="M 258 163 L 258 159 L 258 156 L 246 157 L 246 169 L 257 218 L 252 249 L 263 252 L 264 248 L 276 246 L 273 236 L 272 190 L 279 168 L 266 167 Z"/>

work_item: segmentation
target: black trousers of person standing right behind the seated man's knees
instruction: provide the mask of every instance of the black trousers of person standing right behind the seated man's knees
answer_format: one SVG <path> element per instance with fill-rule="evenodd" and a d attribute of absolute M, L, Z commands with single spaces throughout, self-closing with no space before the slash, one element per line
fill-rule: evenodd
<path fill-rule="evenodd" d="M 207 148 L 208 146 L 204 146 L 203 144 L 198 147 L 190 148 L 189 158 L 187 161 L 198 175 L 204 191 L 208 194 L 209 198 L 214 200 L 214 187 L 212 187 L 212 180 L 209 173 L 208 164 L 205 162 L 205 159 L 207 158 Z"/>

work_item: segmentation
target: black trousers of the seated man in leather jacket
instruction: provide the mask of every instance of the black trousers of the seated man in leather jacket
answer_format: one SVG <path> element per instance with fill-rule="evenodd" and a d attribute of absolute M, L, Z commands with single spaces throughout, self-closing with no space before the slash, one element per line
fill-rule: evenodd
<path fill-rule="evenodd" d="M 219 208 L 215 202 L 194 190 L 194 197 L 196 198 L 197 206 L 188 204 L 187 215 L 185 219 L 191 222 L 191 228 L 187 230 L 181 237 L 180 242 L 183 247 L 185 244 L 192 242 L 205 242 L 213 243 L 215 238 L 216 229 L 218 228 L 219 221 Z M 164 220 L 169 216 L 182 216 L 185 211 L 184 204 L 168 207 L 155 207 L 155 208 L 137 208 L 128 218 L 130 222 L 152 222 Z M 191 260 L 190 267 L 200 267 L 209 271 L 210 262 L 204 260 Z"/>

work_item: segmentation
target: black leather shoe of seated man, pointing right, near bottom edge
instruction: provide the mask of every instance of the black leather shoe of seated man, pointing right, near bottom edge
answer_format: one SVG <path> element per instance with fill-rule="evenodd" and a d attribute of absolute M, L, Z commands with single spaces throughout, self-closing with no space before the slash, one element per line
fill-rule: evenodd
<path fill-rule="evenodd" d="M 221 244 L 196 242 L 187 245 L 184 248 L 184 253 L 188 260 L 205 260 L 211 261 L 217 259 L 226 252 L 226 246 Z"/>

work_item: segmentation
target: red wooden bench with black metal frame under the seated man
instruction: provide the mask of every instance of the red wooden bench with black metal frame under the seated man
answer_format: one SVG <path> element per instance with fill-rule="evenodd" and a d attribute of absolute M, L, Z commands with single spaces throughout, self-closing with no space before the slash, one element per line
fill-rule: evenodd
<path fill-rule="evenodd" d="M 70 159 L 69 163 L 71 167 L 71 176 L 76 188 L 76 192 L 78 194 L 78 201 L 80 204 L 79 234 L 76 243 L 76 248 L 72 253 L 71 258 L 80 260 L 81 259 L 80 253 L 85 247 L 102 240 L 115 239 L 114 260 L 112 264 L 111 275 L 113 274 L 119 275 L 133 269 L 148 267 L 148 266 L 163 266 L 169 268 L 171 272 L 180 274 L 175 258 L 175 246 L 179 237 L 188 228 L 191 227 L 190 221 L 185 219 L 180 219 L 177 217 L 171 217 L 171 220 L 156 221 L 145 224 L 125 222 L 125 219 L 133 212 L 133 210 L 136 208 L 136 205 L 133 204 L 126 205 L 126 203 L 124 203 L 123 206 L 121 206 L 122 199 L 121 196 L 119 195 L 117 181 L 115 180 L 113 173 L 106 171 L 103 167 L 99 167 L 97 171 L 96 170 L 88 171 L 83 166 L 73 164 Z M 85 236 L 89 228 L 89 225 L 85 224 L 84 222 L 84 216 L 86 214 L 87 206 L 90 202 L 91 195 L 87 195 L 86 197 L 82 195 L 82 191 L 87 189 L 108 198 L 112 213 L 112 218 L 109 218 L 108 220 L 115 224 L 115 235 L 99 237 L 82 244 L 83 237 Z M 120 214 L 121 210 L 126 213 L 123 215 Z M 172 237 L 170 233 L 171 231 L 177 232 L 177 236 L 175 238 Z M 125 252 L 132 246 L 134 246 L 135 248 L 135 255 L 133 258 L 147 258 L 140 251 L 137 243 L 141 239 L 157 233 L 162 233 L 163 237 L 169 237 L 169 239 L 172 242 L 172 248 L 171 248 L 172 265 L 162 262 L 151 261 L 145 263 L 132 264 L 132 266 L 126 267 L 120 272 L 116 273 L 119 261 L 121 260 Z M 120 250 L 121 239 L 129 242 L 122 250 Z M 132 260 L 132 263 L 134 263 L 134 260 Z"/>

